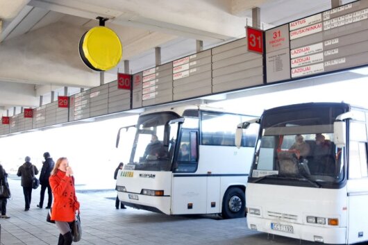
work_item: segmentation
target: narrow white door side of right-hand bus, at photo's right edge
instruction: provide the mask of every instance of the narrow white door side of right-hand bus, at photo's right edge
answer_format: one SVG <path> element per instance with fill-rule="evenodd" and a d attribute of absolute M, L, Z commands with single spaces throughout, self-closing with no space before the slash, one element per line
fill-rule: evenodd
<path fill-rule="evenodd" d="M 368 239 L 368 160 L 365 124 L 351 122 L 349 141 L 348 243 Z"/>

